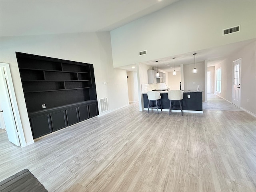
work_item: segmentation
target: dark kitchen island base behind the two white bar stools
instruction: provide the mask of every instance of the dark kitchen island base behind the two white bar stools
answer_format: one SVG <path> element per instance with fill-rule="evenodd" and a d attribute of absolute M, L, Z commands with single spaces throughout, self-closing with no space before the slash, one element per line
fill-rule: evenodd
<path fill-rule="evenodd" d="M 167 92 L 160 92 L 162 108 L 169 111 L 170 100 L 168 99 Z M 190 98 L 188 98 L 190 96 Z M 148 96 L 146 93 L 143 94 L 144 109 L 148 109 Z M 183 99 L 181 100 L 182 110 L 184 112 L 195 112 L 203 113 L 203 100 L 201 92 L 183 92 Z M 179 106 L 179 102 L 174 102 L 174 105 Z M 165 110 L 165 111 L 166 111 Z M 180 110 L 172 110 L 180 111 Z"/>

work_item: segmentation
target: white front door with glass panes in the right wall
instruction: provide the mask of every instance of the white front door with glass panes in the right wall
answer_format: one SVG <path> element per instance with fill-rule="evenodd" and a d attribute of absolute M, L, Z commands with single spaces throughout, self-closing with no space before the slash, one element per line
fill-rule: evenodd
<path fill-rule="evenodd" d="M 240 108 L 241 102 L 241 59 L 233 62 L 233 99 L 232 103 Z"/>

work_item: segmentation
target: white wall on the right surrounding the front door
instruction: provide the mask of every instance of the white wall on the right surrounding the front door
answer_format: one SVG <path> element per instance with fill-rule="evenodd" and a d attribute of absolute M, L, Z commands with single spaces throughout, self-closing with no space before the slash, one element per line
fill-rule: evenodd
<path fill-rule="evenodd" d="M 233 61 L 239 58 L 242 58 L 241 107 L 256 115 L 256 41 L 234 52 L 224 62 L 215 66 L 215 69 L 221 67 L 222 73 L 221 94 L 215 93 L 232 102 Z"/>

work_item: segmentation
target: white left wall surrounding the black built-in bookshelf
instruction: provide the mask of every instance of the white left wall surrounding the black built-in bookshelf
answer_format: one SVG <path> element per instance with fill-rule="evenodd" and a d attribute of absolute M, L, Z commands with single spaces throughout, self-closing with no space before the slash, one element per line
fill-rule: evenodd
<path fill-rule="evenodd" d="M 0 62 L 10 64 L 26 142 L 33 138 L 15 52 L 93 64 L 98 99 L 108 97 L 110 110 L 129 104 L 126 70 L 113 68 L 110 32 L 1 37 L 0 43 Z"/>

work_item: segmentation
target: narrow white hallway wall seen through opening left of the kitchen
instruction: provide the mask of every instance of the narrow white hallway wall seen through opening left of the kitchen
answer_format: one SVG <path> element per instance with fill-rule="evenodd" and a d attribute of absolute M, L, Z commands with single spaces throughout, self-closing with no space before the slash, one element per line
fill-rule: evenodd
<path fill-rule="evenodd" d="M 128 96 L 129 102 L 138 102 L 138 80 L 137 72 L 127 72 L 127 85 L 128 85 Z"/>

